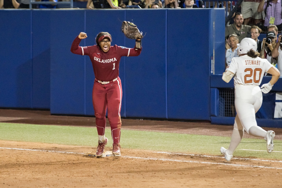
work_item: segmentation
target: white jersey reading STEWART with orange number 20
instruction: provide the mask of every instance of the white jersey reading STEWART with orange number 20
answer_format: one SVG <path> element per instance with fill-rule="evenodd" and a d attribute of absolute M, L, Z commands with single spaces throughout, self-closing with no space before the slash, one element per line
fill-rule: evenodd
<path fill-rule="evenodd" d="M 248 55 L 233 57 L 230 65 L 226 68 L 235 74 L 234 85 L 260 85 L 263 74 L 273 65 L 267 59 L 260 57 L 252 58 Z"/>

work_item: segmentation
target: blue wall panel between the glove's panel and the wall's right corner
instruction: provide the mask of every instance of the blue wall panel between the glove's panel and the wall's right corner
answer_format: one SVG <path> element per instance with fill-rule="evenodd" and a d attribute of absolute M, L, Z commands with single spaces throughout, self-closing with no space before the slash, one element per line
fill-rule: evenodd
<path fill-rule="evenodd" d="M 205 17 L 210 9 L 168 10 L 168 118 L 210 120 L 210 26 Z"/>

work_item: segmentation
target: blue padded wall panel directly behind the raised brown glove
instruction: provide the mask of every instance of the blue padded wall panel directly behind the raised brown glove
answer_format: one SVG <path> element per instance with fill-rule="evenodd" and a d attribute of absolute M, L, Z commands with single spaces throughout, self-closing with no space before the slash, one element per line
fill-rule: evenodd
<path fill-rule="evenodd" d="M 127 117 L 167 118 L 166 11 L 126 10 L 126 20 L 146 33 L 141 54 L 125 57 Z M 125 40 L 126 47 L 134 45 Z"/>

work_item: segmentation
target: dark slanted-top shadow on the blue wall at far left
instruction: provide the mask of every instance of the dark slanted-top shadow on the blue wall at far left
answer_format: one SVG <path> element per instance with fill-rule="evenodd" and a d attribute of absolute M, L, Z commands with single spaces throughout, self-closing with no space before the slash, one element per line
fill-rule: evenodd
<path fill-rule="evenodd" d="M 19 108 L 50 109 L 50 48 L 17 67 Z"/>

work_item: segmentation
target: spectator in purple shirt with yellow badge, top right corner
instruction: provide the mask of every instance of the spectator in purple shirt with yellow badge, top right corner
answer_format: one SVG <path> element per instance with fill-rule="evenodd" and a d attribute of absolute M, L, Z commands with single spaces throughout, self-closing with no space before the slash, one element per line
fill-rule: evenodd
<path fill-rule="evenodd" d="M 265 23 L 263 26 L 263 31 L 266 31 L 266 28 L 269 25 L 276 25 L 278 30 L 282 30 L 282 17 L 281 17 L 281 0 L 267 0 L 261 1 L 257 12 L 265 12 Z"/>

